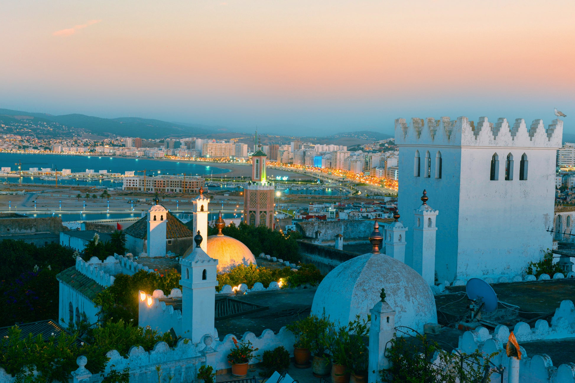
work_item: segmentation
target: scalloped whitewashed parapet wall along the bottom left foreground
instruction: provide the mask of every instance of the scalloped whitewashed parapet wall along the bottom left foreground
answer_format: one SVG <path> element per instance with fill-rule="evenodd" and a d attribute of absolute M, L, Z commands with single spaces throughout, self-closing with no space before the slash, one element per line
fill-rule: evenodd
<path fill-rule="evenodd" d="M 228 363 L 228 354 L 233 347 L 233 338 L 237 336 L 228 334 L 223 341 L 216 341 L 211 335 L 205 335 L 202 342 L 193 343 L 189 339 L 180 339 L 175 347 L 169 347 L 166 342 L 158 342 L 151 351 L 145 351 L 143 347 L 132 347 L 127 357 L 122 357 L 116 350 L 109 351 L 106 355 L 110 358 L 106 363 L 104 374 L 110 369 L 118 371 L 129 367 L 130 382 L 148 383 L 157 382 L 158 375 L 156 366 L 162 369 L 162 383 L 168 382 L 168 375 L 174 376 L 171 383 L 188 383 L 196 381 L 197 370 L 202 365 L 210 365 L 214 370 L 225 370 L 231 366 Z M 282 327 L 278 334 L 272 330 L 264 330 L 262 335 L 256 336 L 253 332 L 246 332 L 241 341 L 250 341 L 254 348 L 259 349 L 256 354 L 262 355 L 264 351 L 273 350 L 283 346 L 293 355 L 294 335 L 291 331 Z M 257 363 L 254 358 L 250 363 Z M 113 366 L 113 367 L 112 367 Z M 101 374 L 92 374 L 90 383 L 102 381 Z M 16 378 L 11 377 L 0 368 L 0 383 L 15 383 Z"/>

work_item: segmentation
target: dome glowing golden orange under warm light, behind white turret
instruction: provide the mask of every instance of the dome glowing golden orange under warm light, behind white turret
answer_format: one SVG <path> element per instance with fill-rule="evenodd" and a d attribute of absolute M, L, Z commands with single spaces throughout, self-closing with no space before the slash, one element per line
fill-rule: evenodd
<path fill-rule="evenodd" d="M 257 265 L 250 249 L 235 238 L 227 235 L 208 237 L 208 256 L 218 260 L 218 273 L 227 273 L 237 265 Z"/>

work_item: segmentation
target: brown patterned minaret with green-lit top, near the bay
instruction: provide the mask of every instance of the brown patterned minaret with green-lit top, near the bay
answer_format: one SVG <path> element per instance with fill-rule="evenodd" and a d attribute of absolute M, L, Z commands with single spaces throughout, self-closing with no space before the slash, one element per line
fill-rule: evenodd
<path fill-rule="evenodd" d="M 244 187 L 244 222 L 250 226 L 274 227 L 273 182 L 266 179 L 266 153 L 252 156 L 252 180 Z"/>

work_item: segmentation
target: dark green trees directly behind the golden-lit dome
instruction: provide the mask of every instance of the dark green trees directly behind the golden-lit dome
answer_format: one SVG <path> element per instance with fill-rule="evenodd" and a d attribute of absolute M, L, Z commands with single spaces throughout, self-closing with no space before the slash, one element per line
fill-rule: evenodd
<path fill-rule="evenodd" d="M 187 224 L 191 229 L 190 225 L 191 221 Z M 208 235 L 214 234 L 217 234 L 217 230 L 213 227 L 208 227 Z M 222 234 L 242 242 L 255 256 L 265 253 L 294 263 L 300 260 L 300 250 L 297 245 L 300 233 L 296 231 L 290 231 L 289 235 L 284 235 L 267 227 L 248 226 L 242 222 L 239 226 L 231 223 L 229 226 L 224 227 Z"/>

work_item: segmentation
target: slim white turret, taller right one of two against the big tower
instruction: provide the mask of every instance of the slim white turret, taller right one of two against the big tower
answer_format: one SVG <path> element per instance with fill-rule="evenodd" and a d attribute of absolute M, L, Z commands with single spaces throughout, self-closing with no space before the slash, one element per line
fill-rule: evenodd
<path fill-rule="evenodd" d="M 427 191 L 423 191 L 421 206 L 413 210 L 413 269 L 420 273 L 429 285 L 435 285 L 435 219 L 439 211 L 427 204 Z"/>

